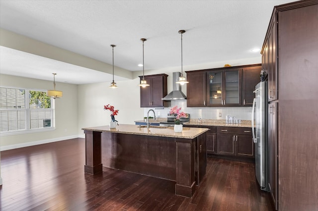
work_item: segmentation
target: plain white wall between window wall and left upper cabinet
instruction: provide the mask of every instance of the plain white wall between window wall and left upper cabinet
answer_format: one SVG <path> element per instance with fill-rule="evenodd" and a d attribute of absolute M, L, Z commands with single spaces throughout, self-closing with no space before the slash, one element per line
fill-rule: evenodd
<path fill-rule="evenodd" d="M 143 117 L 140 107 L 139 78 L 116 82 L 118 88 L 109 88 L 110 82 L 79 85 L 79 134 L 83 127 L 109 125 L 110 111 L 104 105 L 110 104 L 118 109 L 115 119 L 119 124 L 135 124 Z"/>

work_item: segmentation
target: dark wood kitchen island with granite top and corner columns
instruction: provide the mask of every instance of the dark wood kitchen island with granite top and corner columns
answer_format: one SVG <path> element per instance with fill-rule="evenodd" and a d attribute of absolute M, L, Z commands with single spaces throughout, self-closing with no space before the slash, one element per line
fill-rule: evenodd
<path fill-rule="evenodd" d="M 175 181 L 175 194 L 192 197 L 206 171 L 206 128 L 120 124 L 82 128 L 85 133 L 84 171 L 103 167 Z"/>

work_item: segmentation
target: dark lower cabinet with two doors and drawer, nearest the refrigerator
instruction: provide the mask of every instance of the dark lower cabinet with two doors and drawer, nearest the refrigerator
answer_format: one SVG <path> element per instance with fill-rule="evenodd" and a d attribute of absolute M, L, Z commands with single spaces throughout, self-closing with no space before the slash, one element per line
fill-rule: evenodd
<path fill-rule="evenodd" d="M 218 127 L 218 155 L 255 158 L 251 128 Z"/>

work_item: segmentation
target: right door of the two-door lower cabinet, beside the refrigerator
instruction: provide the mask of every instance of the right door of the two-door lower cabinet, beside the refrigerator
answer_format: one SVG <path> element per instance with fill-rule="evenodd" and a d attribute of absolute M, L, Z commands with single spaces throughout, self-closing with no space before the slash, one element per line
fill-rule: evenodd
<path fill-rule="evenodd" d="M 237 156 L 255 158 L 255 144 L 251 135 L 236 135 Z"/>

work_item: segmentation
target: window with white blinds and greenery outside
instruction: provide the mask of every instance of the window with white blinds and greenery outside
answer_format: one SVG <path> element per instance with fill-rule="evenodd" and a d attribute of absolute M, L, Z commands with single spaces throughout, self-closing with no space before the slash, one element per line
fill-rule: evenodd
<path fill-rule="evenodd" d="M 0 87 L 0 134 L 52 130 L 54 100 L 46 91 Z"/>

